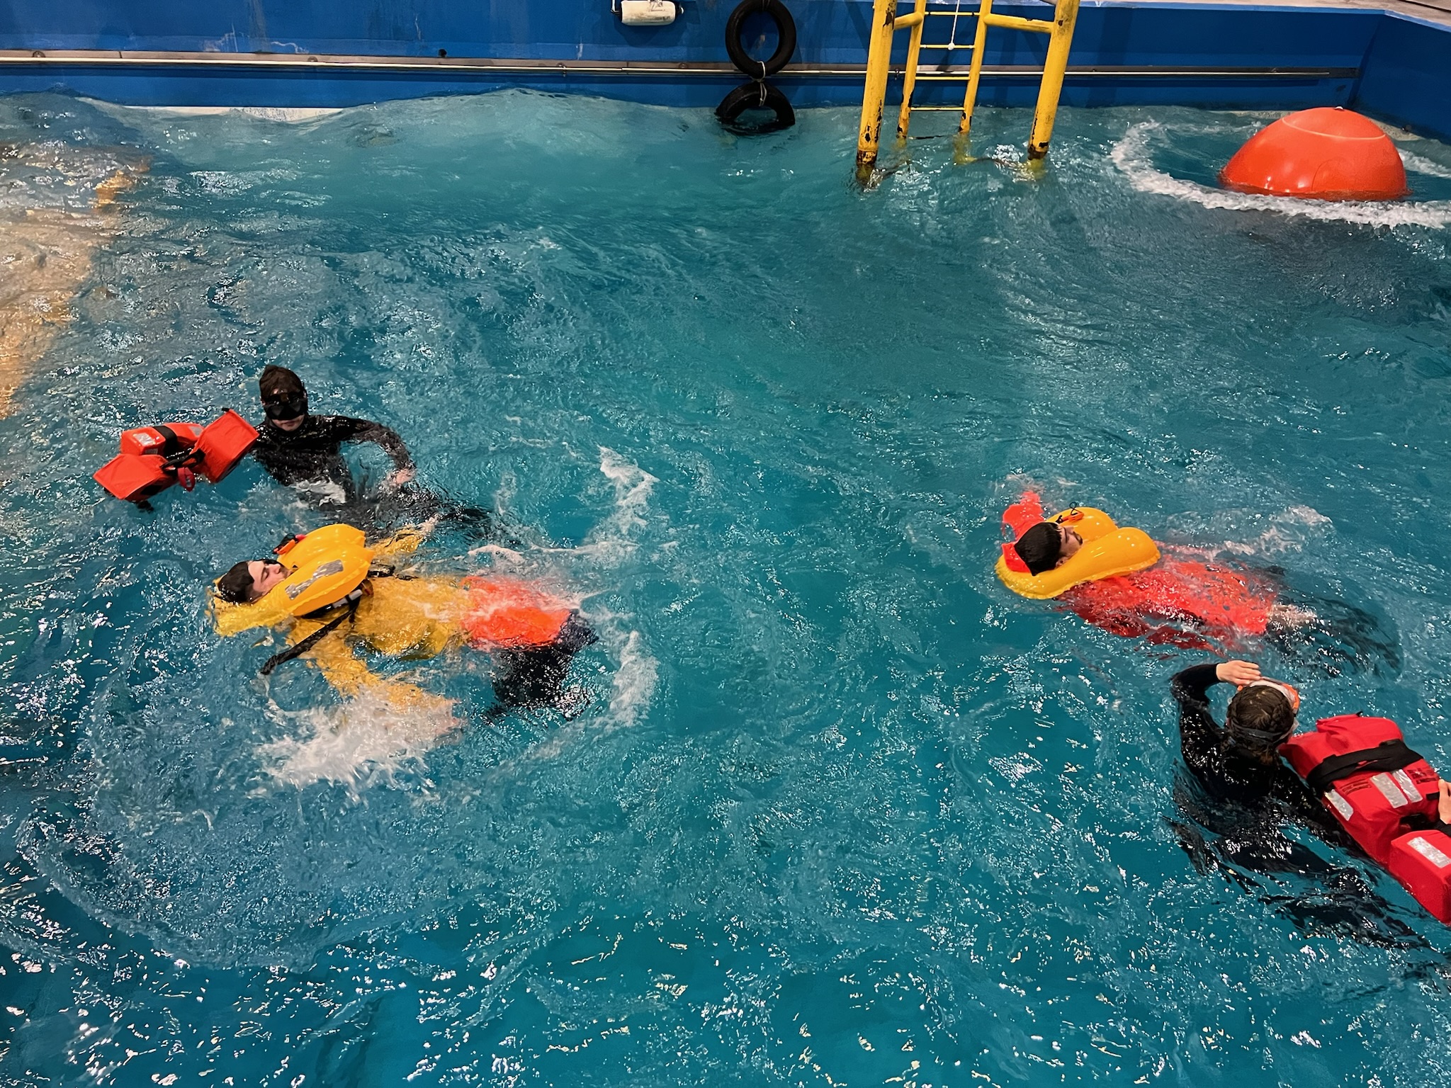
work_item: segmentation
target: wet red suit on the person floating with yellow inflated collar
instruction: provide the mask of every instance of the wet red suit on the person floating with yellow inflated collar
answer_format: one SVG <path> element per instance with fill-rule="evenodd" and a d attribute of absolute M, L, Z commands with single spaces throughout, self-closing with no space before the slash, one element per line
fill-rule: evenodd
<path fill-rule="evenodd" d="M 1014 540 L 1040 521 L 1043 505 L 1035 492 L 1023 492 L 1003 514 Z M 1207 650 L 1262 635 L 1275 605 L 1275 589 L 1268 579 L 1249 572 L 1191 559 L 1161 559 L 1148 570 L 1082 582 L 1058 601 L 1116 635 L 1148 635 L 1152 643 Z"/>

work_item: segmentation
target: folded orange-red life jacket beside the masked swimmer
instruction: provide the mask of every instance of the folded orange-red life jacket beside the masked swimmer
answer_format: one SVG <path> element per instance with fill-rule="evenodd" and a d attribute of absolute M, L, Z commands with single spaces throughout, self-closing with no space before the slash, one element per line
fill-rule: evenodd
<path fill-rule="evenodd" d="M 252 425 L 231 409 L 206 426 L 136 426 L 120 432 L 120 453 L 96 471 L 94 480 L 118 499 L 142 503 L 173 483 L 192 490 L 196 473 L 218 483 L 255 441 Z"/>

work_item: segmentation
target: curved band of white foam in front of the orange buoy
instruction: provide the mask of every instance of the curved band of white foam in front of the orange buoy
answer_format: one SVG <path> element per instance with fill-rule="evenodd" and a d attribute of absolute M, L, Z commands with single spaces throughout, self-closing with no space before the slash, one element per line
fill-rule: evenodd
<path fill-rule="evenodd" d="M 1364 223 L 1367 226 L 1428 226 L 1451 225 L 1451 200 L 1400 200 L 1360 203 L 1354 200 L 1302 200 L 1287 196 L 1258 196 L 1210 189 L 1197 181 L 1167 174 L 1156 168 L 1149 154 L 1151 138 L 1162 132 L 1158 122 L 1143 122 L 1129 128 L 1113 145 L 1113 164 L 1140 193 L 1155 193 L 1177 200 L 1191 200 L 1203 207 L 1229 212 L 1275 212 L 1328 223 Z M 1419 158 L 1419 157 L 1416 157 Z"/>

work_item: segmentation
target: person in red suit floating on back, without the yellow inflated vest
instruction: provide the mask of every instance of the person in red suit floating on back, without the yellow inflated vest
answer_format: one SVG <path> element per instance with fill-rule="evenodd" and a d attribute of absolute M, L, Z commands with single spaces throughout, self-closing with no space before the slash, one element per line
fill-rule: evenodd
<path fill-rule="evenodd" d="M 1035 514 L 1042 518 L 1033 492 L 1010 508 L 1019 519 Z M 1081 544 L 1071 524 L 1039 521 L 1011 547 L 1030 573 L 1040 574 L 1066 563 Z M 1161 551 L 1170 550 L 1161 545 Z M 1238 648 L 1245 640 L 1267 638 L 1331 675 L 1347 664 L 1400 666 L 1393 637 L 1373 615 L 1331 598 L 1290 598 L 1278 573 L 1164 554 L 1146 570 L 1082 582 L 1056 599 L 1094 627 L 1126 638 L 1188 650 Z"/>

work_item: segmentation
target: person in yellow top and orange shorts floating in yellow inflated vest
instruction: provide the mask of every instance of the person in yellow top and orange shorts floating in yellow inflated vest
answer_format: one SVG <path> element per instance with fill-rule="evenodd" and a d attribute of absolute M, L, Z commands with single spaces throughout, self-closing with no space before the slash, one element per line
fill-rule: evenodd
<path fill-rule="evenodd" d="M 377 676 L 354 646 L 403 660 L 472 646 L 499 662 L 496 711 L 557 704 L 575 654 L 595 641 L 579 612 L 521 579 L 398 574 L 398 559 L 421 541 L 403 531 L 370 547 L 351 525 L 287 538 L 273 559 L 242 560 L 218 579 L 218 632 L 287 627 L 289 648 L 264 675 L 306 656 L 342 695 L 373 691 L 408 705 L 441 699 Z"/>

